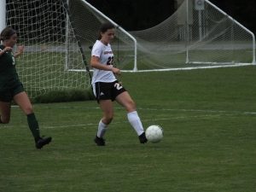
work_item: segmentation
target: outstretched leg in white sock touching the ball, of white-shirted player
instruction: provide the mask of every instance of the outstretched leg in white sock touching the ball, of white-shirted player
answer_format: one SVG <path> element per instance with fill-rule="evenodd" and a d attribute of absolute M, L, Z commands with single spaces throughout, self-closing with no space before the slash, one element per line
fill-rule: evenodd
<path fill-rule="evenodd" d="M 127 118 L 131 126 L 137 132 L 140 143 L 147 143 L 148 140 L 145 137 L 142 121 L 137 114 L 136 104 L 131 99 L 129 93 L 127 91 L 122 92 L 119 96 L 116 96 L 115 100 L 126 109 Z"/>

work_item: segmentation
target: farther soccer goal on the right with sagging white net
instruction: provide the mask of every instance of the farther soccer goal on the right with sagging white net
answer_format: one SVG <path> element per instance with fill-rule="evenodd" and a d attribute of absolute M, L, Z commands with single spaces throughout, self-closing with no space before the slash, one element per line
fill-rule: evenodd
<path fill-rule="evenodd" d="M 138 68 L 223 67 L 255 63 L 255 38 L 207 0 L 184 0 L 159 25 L 131 32 Z"/>

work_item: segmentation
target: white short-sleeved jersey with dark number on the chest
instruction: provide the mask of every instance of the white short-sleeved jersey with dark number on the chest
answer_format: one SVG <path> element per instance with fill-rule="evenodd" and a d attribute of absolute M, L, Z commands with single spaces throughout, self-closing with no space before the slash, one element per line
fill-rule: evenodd
<path fill-rule="evenodd" d="M 99 40 L 96 40 L 96 43 L 93 45 L 91 56 L 99 57 L 102 65 L 112 65 L 113 63 L 113 51 L 110 44 L 102 44 Z M 115 80 L 116 78 L 112 71 L 93 68 L 91 84 L 95 84 L 96 82 L 113 82 Z"/>

